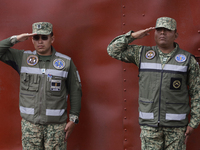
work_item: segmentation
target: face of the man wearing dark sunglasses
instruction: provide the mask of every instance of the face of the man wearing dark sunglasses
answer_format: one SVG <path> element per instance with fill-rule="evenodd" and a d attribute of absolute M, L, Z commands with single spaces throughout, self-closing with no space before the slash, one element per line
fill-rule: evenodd
<path fill-rule="evenodd" d="M 51 44 L 54 42 L 54 36 L 34 35 L 32 42 L 39 55 L 51 55 Z"/>

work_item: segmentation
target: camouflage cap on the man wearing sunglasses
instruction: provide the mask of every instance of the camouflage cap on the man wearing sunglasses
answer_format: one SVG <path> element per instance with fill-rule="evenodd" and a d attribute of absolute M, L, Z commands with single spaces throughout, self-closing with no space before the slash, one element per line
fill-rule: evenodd
<path fill-rule="evenodd" d="M 49 35 L 53 31 L 53 25 L 49 22 L 36 22 L 32 25 L 33 33 Z"/>

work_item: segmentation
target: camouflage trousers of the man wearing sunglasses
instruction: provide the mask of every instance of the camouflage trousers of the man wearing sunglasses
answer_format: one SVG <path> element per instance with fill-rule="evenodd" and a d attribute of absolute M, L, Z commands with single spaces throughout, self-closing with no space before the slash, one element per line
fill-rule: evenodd
<path fill-rule="evenodd" d="M 63 124 L 40 125 L 22 119 L 23 150 L 66 150 L 65 127 Z"/>

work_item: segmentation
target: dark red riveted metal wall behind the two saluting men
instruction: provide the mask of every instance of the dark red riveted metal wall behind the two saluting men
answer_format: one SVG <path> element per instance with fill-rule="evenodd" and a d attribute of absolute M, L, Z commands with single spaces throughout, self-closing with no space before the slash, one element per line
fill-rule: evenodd
<path fill-rule="evenodd" d="M 82 80 L 80 124 L 68 150 L 139 150 L 138 69 L 107 55 L 116 36 L 155 25 L 158 17 L 177 20 L 182 49 L 200 55 L 200 1 L 196 0 L 1 0 L 0 40 L 31 32 L 31 25 L 54 25 L 53 46 L 75 62 Z M 155 45 L 153 32 L 135 44 Z M 33 50 L 31 40 L 15 48 Z M 19 76 L 0 62 L 0 150 L 21 149 Z M 200 128 L 187 148 L 200 150 Z"/>

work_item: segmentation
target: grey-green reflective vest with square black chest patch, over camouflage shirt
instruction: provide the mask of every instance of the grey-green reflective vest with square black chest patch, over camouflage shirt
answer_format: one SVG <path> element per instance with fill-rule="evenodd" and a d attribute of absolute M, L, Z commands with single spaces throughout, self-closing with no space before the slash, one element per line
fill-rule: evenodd
<path fill-rule="evenodd" d="M 187 72 L 191 54 L 180 48 L 161 66 L 156 47 L 143 47 L 139 67 L 139 123 L 179 127 L 190 112 Z"/>

